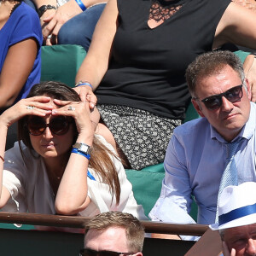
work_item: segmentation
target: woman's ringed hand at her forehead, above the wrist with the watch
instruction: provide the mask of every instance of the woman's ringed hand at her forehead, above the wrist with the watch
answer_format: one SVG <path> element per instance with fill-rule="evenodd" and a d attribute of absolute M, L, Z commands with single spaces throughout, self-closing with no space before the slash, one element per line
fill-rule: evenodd
<path fill-rule="evenodd" d="M 79 134 L 94 135 L 96 125 L 99 119 L 91 118 L 89 102 L 71 102 L 54 100 L 60 108 L 52 111 L 53 115 L 71 116 L 75 119 Z"/>

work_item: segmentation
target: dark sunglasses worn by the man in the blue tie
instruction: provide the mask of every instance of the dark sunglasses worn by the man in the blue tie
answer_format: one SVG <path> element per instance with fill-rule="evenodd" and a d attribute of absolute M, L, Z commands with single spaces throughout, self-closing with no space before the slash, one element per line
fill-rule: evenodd
<path fill-rule="evenodd" d="M 227 90 L 224 93 L 209 96 L 201 100 L 201 102 L 203 102 L 208 109 L 215 110 L 221 107 L 223 102 L 222 101 L 223 96 L 232 103 L 240 102 L 242 97 L 242 84 L 232 87 L 230 88 L 230 90 Z M 198 99 L 198 98 L 195 98 L 195 99 Z"/>

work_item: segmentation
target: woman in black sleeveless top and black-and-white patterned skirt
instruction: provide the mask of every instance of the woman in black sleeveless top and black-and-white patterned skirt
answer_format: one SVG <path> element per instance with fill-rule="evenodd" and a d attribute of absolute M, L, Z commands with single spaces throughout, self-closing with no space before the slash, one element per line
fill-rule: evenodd
<path fill-rule="evenodd" d="M 126 167 L 163 162 L 191 99 L 189 63 L 227 43 L 256 48 L 255 20 L 230 0 L 108 1 L 75 90 L 98 101 L 99 132 Z"/>

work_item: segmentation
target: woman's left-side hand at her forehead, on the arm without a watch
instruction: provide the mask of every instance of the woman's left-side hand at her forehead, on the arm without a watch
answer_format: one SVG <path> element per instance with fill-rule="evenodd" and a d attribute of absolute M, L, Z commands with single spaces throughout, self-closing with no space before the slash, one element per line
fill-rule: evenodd
<path fill-rule="evenodd" d="M 45 116 L 52 111 L 52 105 L 46 104 L 50 101 L 49 96 L 34 96 L 22 99 L 14 106 L 5 110 L 0 120 L 8 127 L 26 115 Z"/>

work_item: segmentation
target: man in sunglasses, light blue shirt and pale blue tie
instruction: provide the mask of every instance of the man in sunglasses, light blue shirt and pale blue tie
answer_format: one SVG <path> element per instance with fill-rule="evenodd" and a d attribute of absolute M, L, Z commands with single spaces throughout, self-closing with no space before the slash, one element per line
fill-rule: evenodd
<path fill-rule="evenodd" d="M 189 212 L 195 197 L 197 223 L 212 224 L 218 193 L 226 185 L 256 181 L 256 105 L 250 102 L 241 61 L 230 51 L 198 56 L 186 79 L 202 118 L 175 129 L 166 150 L 160 198 L 149 217 L 193 224 Z M 230 146 L 235 149 L 231 155 Z"/>

